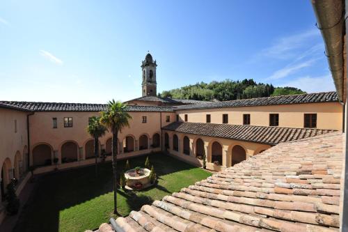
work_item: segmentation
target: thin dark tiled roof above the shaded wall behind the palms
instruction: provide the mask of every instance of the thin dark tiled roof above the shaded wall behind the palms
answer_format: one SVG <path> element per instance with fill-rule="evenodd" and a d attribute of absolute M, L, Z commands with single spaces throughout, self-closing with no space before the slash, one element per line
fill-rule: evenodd
<path fill-rule="evenodd" d="M 88 104 L 88 103 L 61 103 L 61 102 L 14 102 L 0 101 L 2 105 L 17 107 L 18 109 L 26 109 L 31 111 L 104 111 L 107 107 L 105 104 Z M 148 112 L 170 112 L 173 107 L 159 106 L 127 106 L 127 111 L 148 111 Z"/>

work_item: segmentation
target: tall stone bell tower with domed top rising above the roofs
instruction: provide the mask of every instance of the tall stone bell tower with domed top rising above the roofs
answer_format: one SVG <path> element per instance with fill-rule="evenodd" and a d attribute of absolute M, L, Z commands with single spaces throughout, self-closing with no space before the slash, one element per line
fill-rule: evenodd
<path fill-rule="evenodd" d="M 156 67 L 156 61 L 153 61 L 151 54 L 148 53 L 145 56 L 145 61 L 141 63 L 143 71 L 142 96 L 157 96 Z"/>

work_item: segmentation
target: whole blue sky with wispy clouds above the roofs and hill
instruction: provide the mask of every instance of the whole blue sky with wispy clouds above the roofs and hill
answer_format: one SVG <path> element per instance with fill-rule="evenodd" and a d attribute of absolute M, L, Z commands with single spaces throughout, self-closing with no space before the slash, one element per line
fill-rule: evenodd
<path fill-rule="evenodd" d="M 334 90 L 310 1 L 6 0 L 0 35 L 0 100 L 139 97 L 148 50 L 159 92 L 245 78 Z"/>

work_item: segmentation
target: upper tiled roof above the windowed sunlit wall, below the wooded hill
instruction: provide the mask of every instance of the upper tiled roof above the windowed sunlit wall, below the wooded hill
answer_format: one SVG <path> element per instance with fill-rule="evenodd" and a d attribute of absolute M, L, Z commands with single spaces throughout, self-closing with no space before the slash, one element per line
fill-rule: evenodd
<path fill-rule="evenodd" d="M 224 107 L 255 107 L 264 105 L 290 105 L 303 103 L 338 102 L 336 92 L 306 93 L 297 95 L 283 95 L 269 98 L 251 98 L 243 100 L 232 100 L 224 102 L 213 102 L 209 104 L 182 105 L 175 110 L 182 109 L 212 109 Z"/>

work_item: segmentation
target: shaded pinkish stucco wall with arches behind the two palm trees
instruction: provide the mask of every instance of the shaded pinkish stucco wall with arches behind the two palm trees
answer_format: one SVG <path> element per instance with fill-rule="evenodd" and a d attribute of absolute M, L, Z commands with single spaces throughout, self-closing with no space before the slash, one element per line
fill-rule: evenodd
<path fill-rule="evenodd" d="M 134 137 L 136 150 L 139 148 L 139 137 L 146 134 L 149 138 L 149 145 L 152 144 L 152 135 L 161 134 L 161 126 L 168 125 L 166 116 L 171 116 L 171 122 L 175 120 L 173 112 L 129 112 L 132 116 L 130 127 L 126 127 L 118 134 L 118 140 L 122 143 L 128 135 Z M 73 141 L 79 147 L 79 161 L 85 160 L 86 143 L 91 139 L 86 132 L 88 118 L 91 116 L 100 116 L 99 112 L 35 112 L 29 118 L 30 136 L 31 136 L 31 164 L 33 163 L 32 150 L 38 144 L 48 144 L 53 152 L 53 157 L 58 157 L 61 163 L 61 146 L 66 141 Z M 147 116 L 147 123 L 142 123 L 142 116 Z M 63 118 L 72 117 L 72 127 L 64 127 Z M 57 118 L 58 128 L 53 128 L 52 118 Z M 160 120 L 161 118 L 161 120 Z M 169 123 L 171 123 L 169 122 Z M 102 148 L 106 148 L 106 140 L 111 138 L 111 132 L 100 138 Z M 120 153 L 122 153 L 122 150 Z M 143 150 L 143 153 L 149 152 L 152 148 Z M 129 154 L 131 155 L 131 154 Z"/>

